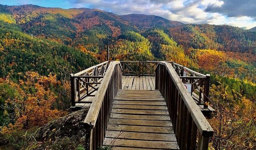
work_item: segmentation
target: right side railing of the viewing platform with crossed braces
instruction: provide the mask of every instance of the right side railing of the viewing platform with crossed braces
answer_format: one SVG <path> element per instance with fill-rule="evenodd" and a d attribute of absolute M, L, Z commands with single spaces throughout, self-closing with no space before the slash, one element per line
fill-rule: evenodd
<path fill-rule="evenodd" d="M 208 108 L 210 74 L 200 74 L 180 64 L 172 63 L 172 67 L 183 83 L 191 84 L 191 96 L 198 105 L 204 105 L 204 109 Z"/>

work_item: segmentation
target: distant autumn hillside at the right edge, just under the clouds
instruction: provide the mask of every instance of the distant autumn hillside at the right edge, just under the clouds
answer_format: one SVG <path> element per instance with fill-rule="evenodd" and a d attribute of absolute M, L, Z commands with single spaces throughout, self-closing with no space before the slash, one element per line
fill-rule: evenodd
<path fill-rule="evenodd" d="M 186 24 L 170 28 L 169 34 L 186 49 L 213 49 L 256 54 L 256 33 L 238 27 Z"/>

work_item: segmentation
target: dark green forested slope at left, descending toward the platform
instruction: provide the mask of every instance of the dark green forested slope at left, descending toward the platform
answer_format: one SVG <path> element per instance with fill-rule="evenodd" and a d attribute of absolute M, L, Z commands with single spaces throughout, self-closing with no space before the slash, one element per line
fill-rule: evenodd
<path fill-rule="evenodd" d="M 0 21 L 0 76 L 18 79 L 27 71 L 41 75 L 51 72 L 60 78 L 60 69 L 70 66 L 77 72 L 97 63 L 90 54 L 80 50 L 24 34 L 15 25 Z M 19 73 L 19 74 L 18 74 Z"/>

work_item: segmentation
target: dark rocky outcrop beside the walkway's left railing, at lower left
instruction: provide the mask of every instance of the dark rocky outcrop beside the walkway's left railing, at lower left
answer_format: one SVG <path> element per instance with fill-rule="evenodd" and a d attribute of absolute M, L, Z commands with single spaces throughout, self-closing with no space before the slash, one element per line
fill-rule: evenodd
<path fill-rule="evenodd" d="M 37 149 L 52 149 L 52 144 L 56 141 L 62 141 L 62 139 L 65 139 L 65 142 L 67 139 L 68 142 L 74 142 L 74 147 L 78 145 L 82 145 L 85 148 L 88 147 L 90 130 L 83 126 L 83 120 L 88 110 L 89 108 L 82 108 L 40 127 L 34 133 L 37 142 L 42 142 L 42 145 Z"/>

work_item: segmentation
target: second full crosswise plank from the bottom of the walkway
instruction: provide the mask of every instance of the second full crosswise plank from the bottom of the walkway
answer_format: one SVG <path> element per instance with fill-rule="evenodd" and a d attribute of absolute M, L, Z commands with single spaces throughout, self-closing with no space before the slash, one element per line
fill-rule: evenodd
<path fill-rule="evenodd" d="M 138 132 L 122 132 L 107 131 L 106 138 L 130 139 L 130 140 L 155 140 L 155 141 L 176 141 L 175 134 L 160 133 L 138 133 Z"/>

